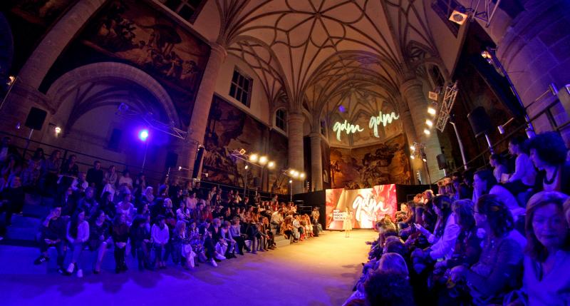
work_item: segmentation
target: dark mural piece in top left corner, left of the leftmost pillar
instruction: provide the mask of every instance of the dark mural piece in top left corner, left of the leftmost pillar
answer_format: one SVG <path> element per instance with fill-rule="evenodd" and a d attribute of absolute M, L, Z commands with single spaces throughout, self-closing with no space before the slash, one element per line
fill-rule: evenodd
<path fill-rule="evenodd" d="M 11 12 L 33 24 L 49 27 L 78 0 L 11 0 Z"/>

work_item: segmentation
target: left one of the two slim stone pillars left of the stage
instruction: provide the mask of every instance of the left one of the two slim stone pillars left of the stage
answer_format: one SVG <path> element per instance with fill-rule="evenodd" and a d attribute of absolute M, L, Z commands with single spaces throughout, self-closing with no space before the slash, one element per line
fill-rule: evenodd
<path fill-rule="evenodd" d="M 303 123 L 302 113 L 290 112 L 287 117 L 287 131 L 289 138 L 289 168 L 304 171 L 303 150 Z M 303 181 L 293 180 L 293 193 L 303 192 Z"/>

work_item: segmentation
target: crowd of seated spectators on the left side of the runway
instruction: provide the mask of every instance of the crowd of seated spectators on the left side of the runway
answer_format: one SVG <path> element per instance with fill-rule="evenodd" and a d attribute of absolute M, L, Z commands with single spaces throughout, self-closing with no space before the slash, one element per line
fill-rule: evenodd
<path fill-rule="evenodd" d="M 242 198 L 237 190 L 224 193 L 219 186 L 180 183 L 176 178 L 155 190 L 140 173 L 107 170 L 95 161 L 86 173 L 77 158 L 61 159 L 60 151 L 44 157 L 38 148 L 23 161 L 4 138 L 0 146 L 1 210 L 6 225 L 21 213 L 24 193 L 38 193 L 55 200 L 38 231 L 41 265 L 56 256 L 58 272 L 83 277 L 81 256 L 94 255 L 93 274 L 101 272 L 103 258 L 112 250 L 115 272 L 128 270 L 125 257 L 133 255 L 139 270 L 164 269 L 167 261 L 186 269 L 276 248 L 274 233 L 296 243 L 318 236 L 318 209 L 311 215 L 296 212 L 294 203 L 279 203 L 278 196 L 261 200 Z M 276 231 L 274 231 L 276 230 Z M 71 253 L 67 255 L 67 253 Z M 71 258 L 71 259 L 70 259 Z M 66 262 L 68 261 L 68 262 Z"/>

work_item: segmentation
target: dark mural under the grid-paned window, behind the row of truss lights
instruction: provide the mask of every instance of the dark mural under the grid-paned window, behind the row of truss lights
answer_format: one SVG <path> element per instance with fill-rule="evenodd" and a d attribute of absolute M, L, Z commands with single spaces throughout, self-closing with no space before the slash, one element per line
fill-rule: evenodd
<path fill-rule="evenodd" d="M 204 173 L 208 180 L 229 185 L 244 185 L 246 169 L 244 161 L 232 158 L 230 153 L 244 148 L 247 153 L 262 153 L 266 126 L 239 108 L 214 96 L 209 111 L 206 136 L 204 137 Z M 253 187 L 259 177 L 259 168 L 247 169 L 247 185 Z"/>

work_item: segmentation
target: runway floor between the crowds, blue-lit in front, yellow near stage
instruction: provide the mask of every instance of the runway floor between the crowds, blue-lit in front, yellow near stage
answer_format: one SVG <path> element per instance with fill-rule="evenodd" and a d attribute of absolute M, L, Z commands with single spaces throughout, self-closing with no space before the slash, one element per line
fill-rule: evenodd
<path fill-rule="evenodd" d="M 0 245 L 0 304 L 9 305 L 342 305 L 366 260 L 371 230 L 327 232 L 269 253 L 246 254 L 194 270 L 169 265 L 166 270 L 131 270 L 115 275 L 113 255 L 103 272 L 65 277 L 55 258 L 40 266 L 38 250 Z M 83 253 L 90 262 L 92 253 Z"/>

